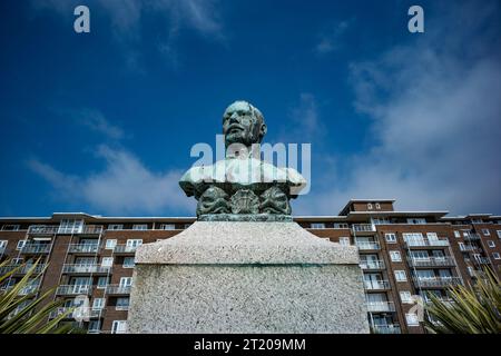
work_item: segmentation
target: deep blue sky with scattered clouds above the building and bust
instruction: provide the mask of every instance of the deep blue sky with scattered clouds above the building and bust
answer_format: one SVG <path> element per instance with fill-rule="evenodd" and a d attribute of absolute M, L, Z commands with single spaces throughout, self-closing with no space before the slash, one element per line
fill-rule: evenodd
<path fill-rule="evenodd" d="M 91 32 L 73 31 L 90 9 Z M 425 32 L 407 31 L 424 9 Z M 0 216 L 191 216 L 177 181 L 224 109 L 311 142 L 296 215 L 350 198 L 501 214 L 499 1 L 0 3 Z"/>

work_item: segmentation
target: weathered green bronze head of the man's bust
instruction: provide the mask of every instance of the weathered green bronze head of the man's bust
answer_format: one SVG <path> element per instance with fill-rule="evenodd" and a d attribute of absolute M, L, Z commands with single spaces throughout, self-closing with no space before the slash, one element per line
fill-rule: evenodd
<path fill-rule="evenodd" d="M 225 145 L 242 144 L 246 147 L 261 144 L 266 135 L 263 113 L 247 101 L 235 101 L 223 115 Z"/>

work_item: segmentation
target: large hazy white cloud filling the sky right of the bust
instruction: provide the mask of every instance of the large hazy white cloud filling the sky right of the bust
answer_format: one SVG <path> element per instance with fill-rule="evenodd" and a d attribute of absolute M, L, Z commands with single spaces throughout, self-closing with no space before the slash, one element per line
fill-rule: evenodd
<path fill-rule="evenodd" d="M 501 56 L 492 4 L 428 19 L 431 33 L 412 46 L 351 66 L 354 106 L 372 119 L 374 145 L 346 157 L 334 176 L 322 175 L 334 187 L 299 197 L 295 214 L 337 214 L 350 198 L 371 197 L 395 198 L 404 209 L 501 212 Z"/>

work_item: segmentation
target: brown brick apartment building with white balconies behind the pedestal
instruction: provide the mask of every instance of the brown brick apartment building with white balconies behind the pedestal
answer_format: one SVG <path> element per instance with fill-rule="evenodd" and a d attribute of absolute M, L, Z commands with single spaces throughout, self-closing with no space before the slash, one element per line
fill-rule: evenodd
<path fill-rule="evenodd" d="M 501 216 L 395 211 L 393 202 L 351 200 L 338 216 L 294 219 L 320 238 L 358 247 L 373 332 L 424 333 L 410 310 L 413 296 L 430 291 L 446 300 L 448 286 L 474 283 L 482 266 L 500 274 Z M 82 212 L 0 218 L 0 257 L 11 259 L 2 273 L 41 258 L 43 274 L 21 294 L 57 287 L 52 298 L 65 299 L 65 307 L 87 296 L 90 312 L 80 326 L 88 333 L 124 333 L 137 246 L 173 237 L 194 221 Z M 9 288 L 23 274 L 26 269 L 19 270 L 0 288 Z M 76 322 L 69 317 L 68 323 Z"/>

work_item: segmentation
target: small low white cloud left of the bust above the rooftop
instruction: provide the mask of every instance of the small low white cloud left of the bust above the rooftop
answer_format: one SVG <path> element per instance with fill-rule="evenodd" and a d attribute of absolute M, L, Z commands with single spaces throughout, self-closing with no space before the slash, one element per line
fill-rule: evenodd
<path fill-rule="evenodd" d="M 63 174 L 36 159 L 28 161 L 28 166 L 52 186 L 58 199 L 72 205 L 87 204 L 99 212 L 163 215 L 171 209 L 191 215 L 195 211 L 193 199 L 185 197 L 178 186 L 181 171 L 151 171 L 132 154 L 108 146 L 100 146 L 97 157 L 105 160 L 106 167 L 82 176 Z"/>

